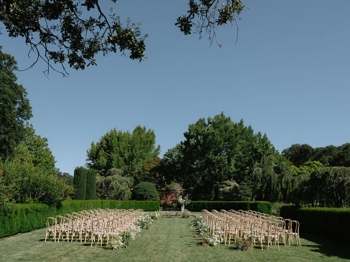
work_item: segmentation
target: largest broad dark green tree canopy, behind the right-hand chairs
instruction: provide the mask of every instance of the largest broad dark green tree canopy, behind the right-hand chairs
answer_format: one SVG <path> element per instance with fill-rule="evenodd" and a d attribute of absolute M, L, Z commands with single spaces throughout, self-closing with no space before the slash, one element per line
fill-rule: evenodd
<path fill-rule="evenodd" d="M 276 167 L 283 161 L 266 134 L 254 133 L 243 119 L 234 123 L 223 113 L 201 118 L 188 126 L 184 137 L 163 161 L 167 180 L 181 182 L 196 192 L 193 197 L 215 200 L 219 186 L 228 180 L 248 186 L 252 199 L 259 190 L 264 194 L 264 189 L 280 187 L 279 176 L 285 173 Z"/>

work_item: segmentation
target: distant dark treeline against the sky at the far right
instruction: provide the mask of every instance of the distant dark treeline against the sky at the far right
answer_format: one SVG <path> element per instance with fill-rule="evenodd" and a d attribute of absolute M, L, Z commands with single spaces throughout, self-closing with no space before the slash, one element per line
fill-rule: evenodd
<path fill-rule="evenodd" d="M 350 167 L 350 143 L 316 148 L 308 144 L 294 144 L 284 149 L 282 155 L 297 167 L 308 160 L 320 161 L 323 165 Z"/>

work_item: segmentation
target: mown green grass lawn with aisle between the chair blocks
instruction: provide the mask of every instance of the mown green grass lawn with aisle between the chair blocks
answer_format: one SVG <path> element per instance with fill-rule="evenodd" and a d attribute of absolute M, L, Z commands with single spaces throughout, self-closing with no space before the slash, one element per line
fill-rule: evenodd
<path fill-rule="evenodd" d="M 160 218 L 128 247 L 110 250 L 91 242 L 46 241 L 45 228 L 0 239 L 0 261 L 349 261 L 349 244 L 302 234 L 301 245 L 239 251 L 235 246 L 202 247 L 192 219 Z M 52 239 L 52 238 L 51 238 Z"/>

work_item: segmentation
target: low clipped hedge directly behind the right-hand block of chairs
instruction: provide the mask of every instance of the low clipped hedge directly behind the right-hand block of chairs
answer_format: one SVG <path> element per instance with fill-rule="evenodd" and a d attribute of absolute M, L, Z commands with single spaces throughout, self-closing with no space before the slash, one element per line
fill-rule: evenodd
<path fill-rule="evenodd" d="M 266 201 L 191 201 L 186 208 L 193 212 L 200 212 L 202 209 L 253 210 L 272 215 L 272 204 Z"/>

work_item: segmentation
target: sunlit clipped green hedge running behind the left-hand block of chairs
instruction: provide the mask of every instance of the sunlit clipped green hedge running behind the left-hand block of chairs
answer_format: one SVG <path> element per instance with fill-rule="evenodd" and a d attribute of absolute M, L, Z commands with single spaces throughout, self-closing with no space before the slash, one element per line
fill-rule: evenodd
<path fill-rule="evenodd" d="M 0 210 L 0 238 L 45 227 L 47 217 L 55 217 L 89 209 L 160 209 L 158 201 L 73 200 L 59 206 L 46 204 L 14 204 L 11 212 Z"/>

